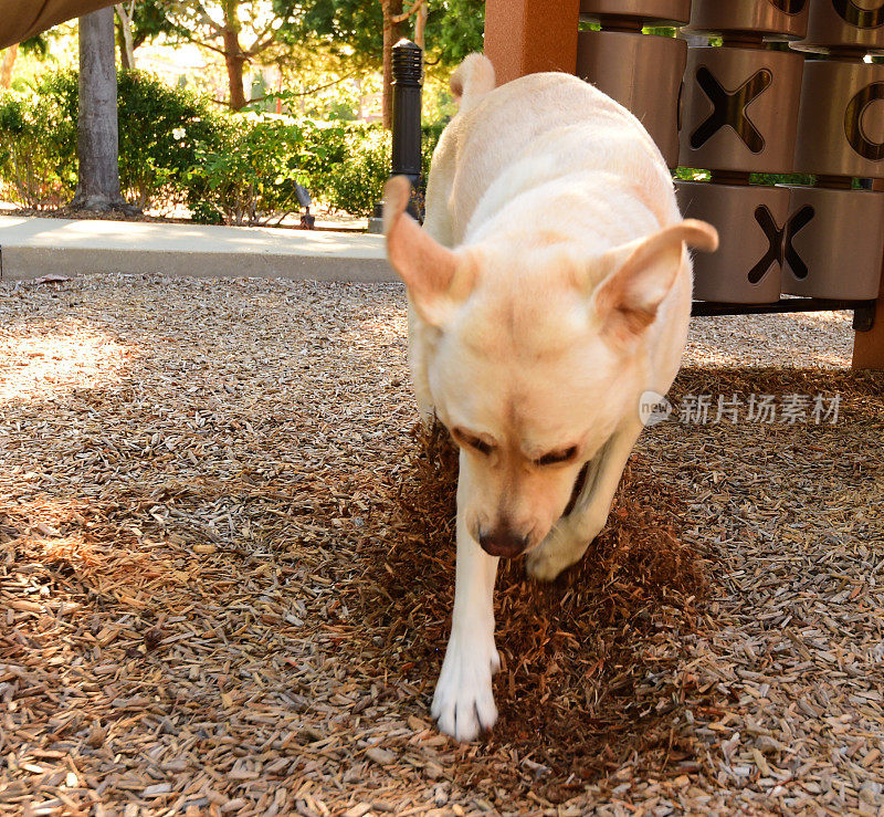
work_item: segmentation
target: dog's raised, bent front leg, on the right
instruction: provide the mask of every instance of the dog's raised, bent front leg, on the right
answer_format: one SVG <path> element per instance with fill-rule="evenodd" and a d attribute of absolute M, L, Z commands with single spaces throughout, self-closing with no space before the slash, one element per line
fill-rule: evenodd
<path fill-rule="evenodd" d="M 580 561 L 608 521 L 617 486 L 641 432 L 642 426 L 638 421 L 614 431 L 600 451 L 599 462 L 592 463 L 590 479 L 583 485 L 573 511 L 562 516 L 528 554 L 525 566 L 529 576 L 551 582 L 566 567 Z"/>

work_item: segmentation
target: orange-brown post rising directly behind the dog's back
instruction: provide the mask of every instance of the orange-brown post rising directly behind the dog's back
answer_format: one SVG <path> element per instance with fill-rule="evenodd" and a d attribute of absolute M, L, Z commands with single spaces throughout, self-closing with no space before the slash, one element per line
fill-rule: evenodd
<path fill-rule="evenodd" d="M 486 0 L 485 54 L 497 84 L 538 71 L 577 71 L 580 0 Z"/>

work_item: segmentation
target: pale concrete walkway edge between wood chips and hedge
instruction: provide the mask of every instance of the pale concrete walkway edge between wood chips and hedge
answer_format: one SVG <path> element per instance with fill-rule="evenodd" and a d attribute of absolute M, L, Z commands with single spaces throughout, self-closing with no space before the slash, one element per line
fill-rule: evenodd
<path fill-rule="evenodd" d="M 0 216 L 0 273 L 4 281 L 94 272 L 398 280 L 387 264 L 380 235 Z"/>

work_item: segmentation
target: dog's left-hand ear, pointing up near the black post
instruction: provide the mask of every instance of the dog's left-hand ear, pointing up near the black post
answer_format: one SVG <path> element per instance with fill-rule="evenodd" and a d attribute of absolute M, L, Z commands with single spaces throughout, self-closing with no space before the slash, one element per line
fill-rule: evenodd
<path fill-rule="evenodd" d="M 383 232 L 387 258 L 406 282 L 411 302 L 432 326 L 441 326 L 472 289 L 472 271 L 461 258 L 434 241 L 406 212 L 411 184 L 393 176 L 383 188 Z"/>

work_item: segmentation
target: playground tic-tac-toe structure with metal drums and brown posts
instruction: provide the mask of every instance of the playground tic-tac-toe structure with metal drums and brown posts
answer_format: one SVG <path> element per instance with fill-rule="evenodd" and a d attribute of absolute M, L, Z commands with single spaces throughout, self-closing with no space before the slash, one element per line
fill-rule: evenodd
<path fill-rule="evenodd" d="M 884 8 L 487 0 L 485 52 L 498 83 L 536 71 L 592 82 L 642 121 L 670 167 L 709 171 L 676 182 L 685 214 L 722 235 L 695 259 L 695 315 L 850 308 L 854 367 L 884 368 L 884 65 L 865 61 L 884 53 Z"/>

